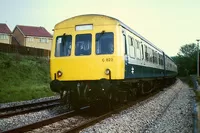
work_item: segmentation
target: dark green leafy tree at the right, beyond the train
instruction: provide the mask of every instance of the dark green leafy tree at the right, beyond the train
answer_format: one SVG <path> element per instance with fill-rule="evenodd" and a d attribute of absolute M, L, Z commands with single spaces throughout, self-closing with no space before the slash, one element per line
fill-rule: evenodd
<path fill-rule="evenodd" d="M 172 58 L 177 64 L 179 76 L 196 74 L 197 45 L 195 43 L 182 46 L 177 56 Z"/>

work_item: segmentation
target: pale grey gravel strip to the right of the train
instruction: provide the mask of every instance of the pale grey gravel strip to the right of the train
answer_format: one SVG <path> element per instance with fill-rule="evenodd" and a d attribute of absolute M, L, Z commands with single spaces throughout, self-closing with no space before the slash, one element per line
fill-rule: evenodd
<path fill-rule="evenodd" d="M 82 132 L 192 132 L 192 100 L 194 93 L 177 80 L 170 89 L 142 105 L 115 114 Z"/>

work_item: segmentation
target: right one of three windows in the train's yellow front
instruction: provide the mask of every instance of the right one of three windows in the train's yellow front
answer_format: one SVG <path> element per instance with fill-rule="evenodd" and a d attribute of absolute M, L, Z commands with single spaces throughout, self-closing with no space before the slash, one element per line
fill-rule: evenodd
<path fill-rule="evenodd" d="M 114 52 L 114 34 L 104 32 L 96 34 L 96 54 L 113 54 Z"/>

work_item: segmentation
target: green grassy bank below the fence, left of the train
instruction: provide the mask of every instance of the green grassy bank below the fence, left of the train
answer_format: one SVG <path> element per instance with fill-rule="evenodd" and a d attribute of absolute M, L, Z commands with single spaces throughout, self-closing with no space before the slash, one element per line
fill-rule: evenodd
<path fill-rule="evenodd" d="M 46 58 L 0 52 L 0 103 L 55 95 Z"/>

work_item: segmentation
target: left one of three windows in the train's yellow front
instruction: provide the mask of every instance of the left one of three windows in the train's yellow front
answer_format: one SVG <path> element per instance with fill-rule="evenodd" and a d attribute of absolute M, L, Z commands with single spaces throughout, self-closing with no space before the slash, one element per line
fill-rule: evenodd
<path fill-rule="evenodd" d="M 70 56 L 71 55 L 71 47 L 72 47 L 72 36 L 71 35 L 58 36 L 56 38 L 55 56 L 56 57 Z"/>

